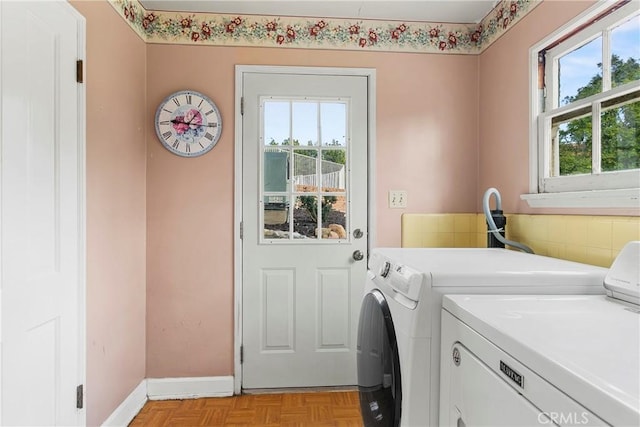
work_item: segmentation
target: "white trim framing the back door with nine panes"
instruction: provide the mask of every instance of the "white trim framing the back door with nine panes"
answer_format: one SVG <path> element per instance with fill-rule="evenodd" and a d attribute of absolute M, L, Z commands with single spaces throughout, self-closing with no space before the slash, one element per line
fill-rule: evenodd
<path fill-rule="evenodd" d="M 242 221 L 242 83 L 245 74 L 299 74 L 325 76 L 362 76 L 367 78 L 367 221 L 368 249 L 375 246 L 375 147 L 376 147 L 376 70 L 374 68 L 337 68 L 337 67 L 289 67 L 272 65 L 236 65 L 235 69 L 235 151 L 234 151 L 234 214 L 233 214 L 233 287 L 234 287 L 234 343 L 233 371 L 234 394 L 242 391 L 242 364 L 240 347 L 242 345 L 242 240 L 240 223 Z"/>

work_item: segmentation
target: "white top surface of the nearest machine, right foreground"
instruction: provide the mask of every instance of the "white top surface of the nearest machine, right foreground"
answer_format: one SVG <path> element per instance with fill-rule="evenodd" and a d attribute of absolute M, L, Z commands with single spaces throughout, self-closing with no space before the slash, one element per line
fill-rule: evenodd
<path fill-rule="evenodd" d="M 638 425 L 637 306 L 602 295 L 448 295 L 443 308 L 607 423 Z"/>

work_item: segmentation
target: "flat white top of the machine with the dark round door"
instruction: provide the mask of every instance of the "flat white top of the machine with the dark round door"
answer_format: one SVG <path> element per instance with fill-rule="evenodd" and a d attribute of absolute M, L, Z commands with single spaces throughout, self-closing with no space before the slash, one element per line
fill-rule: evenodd
<path fill-rule="evenodd" d="M 386 260 L 426 273 L 433 287 L 571 286 L 570 293 L 604 293 L 608 272 L 602 267 L 498 248 L 375 248 L 370 268 L 377 273 L 378 264 Z"/>

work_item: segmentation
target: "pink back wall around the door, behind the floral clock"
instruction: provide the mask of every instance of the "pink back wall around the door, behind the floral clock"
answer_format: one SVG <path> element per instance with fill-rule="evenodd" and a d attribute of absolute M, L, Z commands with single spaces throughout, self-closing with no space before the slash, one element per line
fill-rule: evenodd
<path fill-rule="evenodd" d="M 232 47 L 147 47 L 147 376 L 233 374 L 235 65 L 375 68 L 378 245 L 400 246 L 387 191 L 410 212 L 474 212 L 477 57 Z M 165 150 L 152 126 L 169 93 L 218 105 L 224 131 L 201 158 Z"/>

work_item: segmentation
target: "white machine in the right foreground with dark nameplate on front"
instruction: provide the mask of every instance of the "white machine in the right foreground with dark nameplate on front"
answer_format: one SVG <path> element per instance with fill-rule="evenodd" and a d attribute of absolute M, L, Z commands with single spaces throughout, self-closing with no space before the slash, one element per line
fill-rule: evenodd
<path fill-rule="evenodd" d="M 441 426 L 639 426 L 640 242 L 607 295 L 448 295 Z"/>

